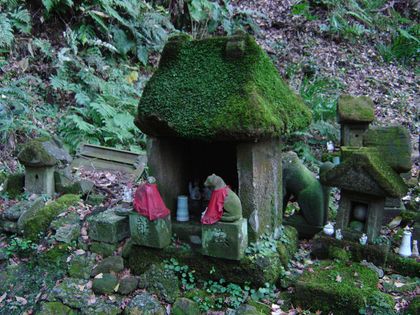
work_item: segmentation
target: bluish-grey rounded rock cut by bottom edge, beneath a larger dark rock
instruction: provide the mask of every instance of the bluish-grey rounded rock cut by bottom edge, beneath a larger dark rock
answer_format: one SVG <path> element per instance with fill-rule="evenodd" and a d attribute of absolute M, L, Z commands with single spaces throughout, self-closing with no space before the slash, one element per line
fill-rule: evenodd
<path fill-rule="evenodd" d="M 165 315 L 159 301 L 147 292 L 136 295 L 124 310 L 125 315 Z"/>

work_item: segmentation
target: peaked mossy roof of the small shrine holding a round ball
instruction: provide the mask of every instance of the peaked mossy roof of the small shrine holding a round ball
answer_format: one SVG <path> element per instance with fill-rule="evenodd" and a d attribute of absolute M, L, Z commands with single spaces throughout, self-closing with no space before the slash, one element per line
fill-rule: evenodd
<path fill-rule="evenodd" d="M 401 197 L 407 193 L 403 179 L 374 148 L 341 148 L 343 162 L 321 175 L 333 187 L 379 196 Z"/>

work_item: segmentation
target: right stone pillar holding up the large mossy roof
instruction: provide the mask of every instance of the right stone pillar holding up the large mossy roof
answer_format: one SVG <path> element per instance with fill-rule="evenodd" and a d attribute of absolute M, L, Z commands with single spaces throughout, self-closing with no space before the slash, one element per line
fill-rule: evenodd
<path fill-rule="evenodd" d="M 250 241 L 282 223 L 282 165 L 278 139 L 237 146 L 239 199 Z"/>

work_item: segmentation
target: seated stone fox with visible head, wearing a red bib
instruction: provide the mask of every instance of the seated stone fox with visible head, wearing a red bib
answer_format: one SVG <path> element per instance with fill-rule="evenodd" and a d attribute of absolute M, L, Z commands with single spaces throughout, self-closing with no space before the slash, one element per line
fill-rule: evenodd
<path fill-rule="evenodd" d="M 242 218 L 242 205 L 239 197 L 215 174 L 207 177 L 204 186 L 212 189 L 209 205 L 201 223 L 234 222 Z"/>

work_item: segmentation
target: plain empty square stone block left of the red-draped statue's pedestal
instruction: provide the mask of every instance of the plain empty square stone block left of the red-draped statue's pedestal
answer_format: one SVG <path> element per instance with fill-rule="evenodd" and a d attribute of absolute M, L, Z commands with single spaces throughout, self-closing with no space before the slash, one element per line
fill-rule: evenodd
<path fill-rule="evenodd" d="M 115 214 L 114 209 L 109 209 L 89 217 L 89 237 L 92 240 L 117 243 L 130 234 L 128 218 Z"/>

